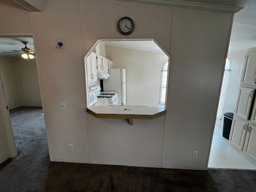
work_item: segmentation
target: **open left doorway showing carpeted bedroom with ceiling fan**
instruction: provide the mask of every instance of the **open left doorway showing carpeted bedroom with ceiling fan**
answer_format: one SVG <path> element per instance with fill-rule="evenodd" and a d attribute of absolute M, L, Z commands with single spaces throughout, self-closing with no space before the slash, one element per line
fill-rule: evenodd
<path fill-rule="evenodd" d="M 24 42 L 26 43 L 24 44 Z M 38 142 L 36 134 L 41 133 L 43 140 L 47 143 L 36 60 L 33 56 L 25 59 L 24 56 L 21 57 L 27 50 L 24 50 L 24 46 L 33 54 L 32 36 L 0 37 L 1 82 L 5 96 L 4 102 L 10 112 L 10 116 L 8 114 L 6 118 L 12 117 L 13 126 L 12 131 L 6 132 L 9 133 L 7 138 L 11 137 L 13 133 L 18 155 L 21 154 L 21 151 L 23 153 L 31 152 L 31 150 L 21 150 L 21 148 L 29 149 L 33 142 Z M 38 130 L 39 126 L 40 131 Z M 37 132 L 34 132 L 35 130 Z"/>

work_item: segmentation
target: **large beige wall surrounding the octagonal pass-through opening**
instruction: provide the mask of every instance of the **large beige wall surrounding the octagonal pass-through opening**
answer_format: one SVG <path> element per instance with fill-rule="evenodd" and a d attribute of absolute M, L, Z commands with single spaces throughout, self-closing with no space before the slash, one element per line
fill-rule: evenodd
<path fill-rule="evenodd" d="M 115 156 L 108 154 L 125 138 L 123 153 L 130 161 L 120 159 L 118 164 L 206 169 L 232 14 L 112 0 L 45 0 L 42 13 L 5 4 L 0 18 L 10 19 L 1 20 L 0 33 L 34 33 L 50 160 L 88 163 L 90 148 L 90 162 L 115 163 Z M 136 120 L 134 127 L 85 112 L 82 56 L 96 38 L 124 38 L 116 28 L 123 16 L 135 22 L 134 32 L 125 38 L 153 37 L 172 56 L 166 116 Z M 17 17 L 25 22 L 20 24 Z M 63 50 L 54 49 L 58 39 L 66 43 Z M 60 102 L 66 110 L 60 110 Z M 94 131 L 102 125 L 118 134 L 105 140 L 103 132 Z M 97 136 L 108 146 L 106 156 L 101 156 L 101 144 L 92 142 Z M 192 158 L 193 150 L 198 158 Z M 146 158 L 154 153 L 156 158 Z"/>

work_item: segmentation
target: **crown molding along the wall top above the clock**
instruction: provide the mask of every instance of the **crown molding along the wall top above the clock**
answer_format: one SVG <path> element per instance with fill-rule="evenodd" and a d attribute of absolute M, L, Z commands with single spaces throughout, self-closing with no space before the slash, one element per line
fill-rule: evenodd
<path fill-rule="evenodd" d="M 233 13 L 233 14 L 242 9 L 241 7 L 231 7 L 231 6 L 223 6 L 223 5 L 200 3 L 200 2 L 188 2 L 188 1 L 182 1 L 182 0 L 115 0 L 115 1 L 144 3 L 144 4 L 153 4 L 153 5 L 162 5 L 162 6 L 173 6 L 173 7 L 179 7 L 179 8 L 190 8 L 190 9 L 225 12 L 225 13 Z"/>

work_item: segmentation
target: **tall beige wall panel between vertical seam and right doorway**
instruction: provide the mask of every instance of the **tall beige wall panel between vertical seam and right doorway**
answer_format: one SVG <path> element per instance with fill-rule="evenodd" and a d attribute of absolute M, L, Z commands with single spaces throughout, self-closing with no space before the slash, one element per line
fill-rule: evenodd
<path fill-rule="evenodd" d="M 231 14 L 174 8 L 164 168 L 207 168 L 231 20 Z"/>

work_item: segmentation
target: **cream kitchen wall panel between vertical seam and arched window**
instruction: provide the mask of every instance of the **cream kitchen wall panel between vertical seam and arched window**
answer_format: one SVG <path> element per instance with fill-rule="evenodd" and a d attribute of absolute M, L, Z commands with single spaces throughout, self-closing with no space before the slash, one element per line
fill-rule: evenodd
<path fill-rule="evenodd" d="M 160 105 L 160 87 L 164 55 L 134 50 L 133 104 Z M 145 86 L 144 86 L 145 85 Z"/>

